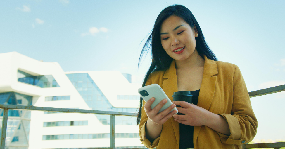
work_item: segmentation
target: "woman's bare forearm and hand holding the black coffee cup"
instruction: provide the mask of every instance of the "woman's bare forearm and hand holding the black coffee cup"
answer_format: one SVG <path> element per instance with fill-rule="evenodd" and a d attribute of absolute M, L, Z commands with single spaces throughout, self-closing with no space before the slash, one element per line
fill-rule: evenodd
<path fill-rule="evenodd" d="M 185 115 L 173 115 L 174 120 L 178 123 L 191 126 L 207 126 L 213 130 L 225 135 L 230 135 L 229 124 L 222 116 L 212 113 L 202 107 L 194 104 L 187 103 L 185 101 L 174 101 L 178 112 Z"/>

